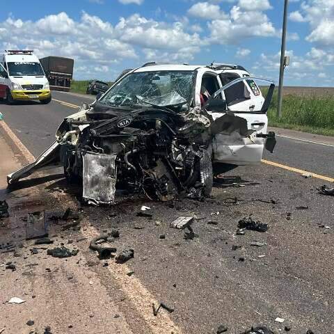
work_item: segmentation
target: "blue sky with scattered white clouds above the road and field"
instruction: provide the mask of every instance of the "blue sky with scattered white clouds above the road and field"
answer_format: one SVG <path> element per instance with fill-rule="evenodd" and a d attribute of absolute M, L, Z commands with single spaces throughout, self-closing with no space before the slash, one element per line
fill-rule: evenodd
<path fill-rule="evenodd" d="M 284 0 L 0 0 L 0 49 L 74 58 L 112 81 L 148 61 L 232 63 L 278 80 Z M 289 0 L 287 86 L 334 86 L 334 0 Z"/>

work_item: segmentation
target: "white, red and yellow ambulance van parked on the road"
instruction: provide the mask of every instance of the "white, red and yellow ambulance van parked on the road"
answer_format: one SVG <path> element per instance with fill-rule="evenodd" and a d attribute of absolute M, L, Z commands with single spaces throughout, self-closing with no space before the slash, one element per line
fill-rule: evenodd
<path fill-rule="evenodd" d="M 15 101 L 51 101 L 49 81 L 31 50 L 6 50 L 0 55 L 0 98 Z"/>

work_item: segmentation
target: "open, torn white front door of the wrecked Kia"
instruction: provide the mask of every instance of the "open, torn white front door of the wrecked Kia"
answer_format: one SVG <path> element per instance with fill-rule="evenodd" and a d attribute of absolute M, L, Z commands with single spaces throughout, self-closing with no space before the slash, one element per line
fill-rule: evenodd
<path fill-rule="evenodd" d="M 275 85 L 273 84 L 274 81 L 255 77 L 235 79 L 217 90 L 212 98 L 216 99 L 216 97 L 221 96 L 222 93 L 223 97 L 225 97 L 225 90 L 233 88 L 234 85 L 239 84 L 240 82 L 245 82 L 246 84 L 245 79 L 249 81 L 260 79 L 271 82 L 267 97 L 264 102 L 261 103 L 262 106 L 261 104 L 257 104 L 257 108 L 255 108 L 255 106 L 253 107 L 251 99 L 241 99 L 239 103 L 235 102 L 230 106 L 228 106 L 227 102 L 227 111 L 219 112 L 214 108 L 212 108 L 211 111 L 208 110 L 208 113 L 212 115 L 214 120 L 221 118 L 225 114 L 244 118 L 248 128 L 248 133 L 246 135 L 237 130 L 231 134 L 221 132 L 215 135 L 213 151 L 214 161 L 216 162 L 237 165 L 255 164 L 261 161 L 264 147 L 270 152 L 273 152 L 273 148 L 276 144 L 275 134 L 273 132 L 269 132 L 269 134 L 267 133 L 267 111 L 275 88 Z M 231 118 L 231 120 L 232 119 L 233 118 Z"/>

